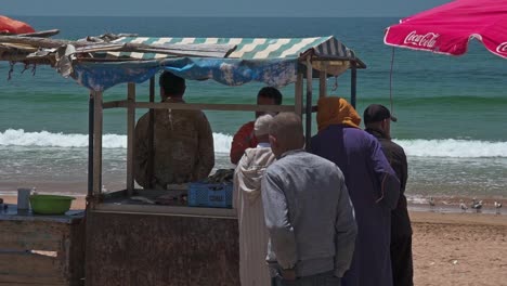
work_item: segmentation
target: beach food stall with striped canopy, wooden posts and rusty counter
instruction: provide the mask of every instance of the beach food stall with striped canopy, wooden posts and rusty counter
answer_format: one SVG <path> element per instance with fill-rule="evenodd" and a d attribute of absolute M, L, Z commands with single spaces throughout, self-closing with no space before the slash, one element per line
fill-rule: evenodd
<path fill-rule="evenodd" d="M 313 79 L 318 79 L 318 96 L 326 96 L 327 78 L 351 70 L 350 101 L 355 105 L 356 69 L 366 67 L 335 37 L 103 35 L 66 41 L 0 36 L 0 51 L 3 42 L 18 50 L 10 53 L 8 49 L 0 58 L 50 64 L 89 90 L 84 282 L 93 286 L 239 285 L 233 170 L 219 170 L 206 181 L 168 185 L 167 190 L 136 187 L 133 158 L 138 108 L 151 113 L 157 108 L 295 112 L 304 116 L 309 144 L 312 113 L 316 110 L 312 105 Z M 27 44 L 42 49 L 23 50 Z M 295 101 L 292 105 L 159 103 L 155 102 L 155 76 L 161 70 L 186 80 L 211 79 L 227 86 L 255 81 L 272 87 L 294 84 Z M 150 81 L 148 99 L 138 96 L 136 83 L 144 81 Z M 127 83 L 125 100 L 107 101 L 107 89 L 120 83 Z M 104 110 L 110 108 L 127 109 L 127 182 L 125 190 L 104 192 L 102 135 L 107 119 Z M 153 126 L 153 116 L 150 123 Z M 152 131 L 152 148 L 153 140 Z M 153 157 L 153 151 L 151 154 Z M 150 164 L 153 158 L 148 158 Z"/>

